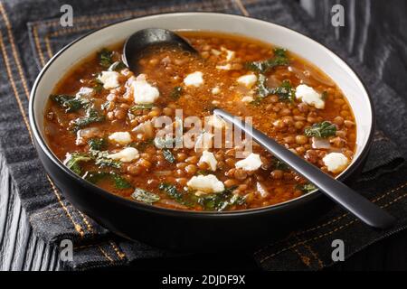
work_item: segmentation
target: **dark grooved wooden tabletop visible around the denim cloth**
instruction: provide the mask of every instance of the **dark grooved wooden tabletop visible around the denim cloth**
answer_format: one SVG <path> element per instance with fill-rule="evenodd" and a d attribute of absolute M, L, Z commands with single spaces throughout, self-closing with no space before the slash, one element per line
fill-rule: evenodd
<path fill-rule="evenodd" d="M 398 93 L 407 91 L 407 2 L 405 0 L 301 0 L 321 25 Z M 335 3 L 345 7 L 345 27 L 330 25 Z M 407 98 L 407 97 L 406 97 Z M 187 261 L 187 262 L 185 262 Z M 158 264 L 159 263 L 159 264 Z M 185 266 L 187 264 L 187 266 Z M 250 256 L 213 256 L 138 261 L 143 269 L 256 269 Z M 215 267 L 213 267 L 215 266 Z M 0 270 L 61 270 L 55 247 L 33 235 L 0 152 Z M 367 247 L 328 270 L 407 270 L 407 231 Z"/>

